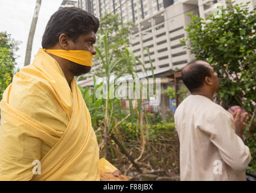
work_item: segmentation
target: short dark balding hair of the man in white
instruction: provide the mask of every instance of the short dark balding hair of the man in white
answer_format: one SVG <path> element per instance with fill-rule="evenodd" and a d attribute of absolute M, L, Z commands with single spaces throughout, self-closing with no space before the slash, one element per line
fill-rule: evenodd
<path fill-rule="evenodd" d="M 194 60 L 182 69 L 181 78 L 190 92 L 203 86 L 205 77 L 211 77 L 210 68 Z"/>

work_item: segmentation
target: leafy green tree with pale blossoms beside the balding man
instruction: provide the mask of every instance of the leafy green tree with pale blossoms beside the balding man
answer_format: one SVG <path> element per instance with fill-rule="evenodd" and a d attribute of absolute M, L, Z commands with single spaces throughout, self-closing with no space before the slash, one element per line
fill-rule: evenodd
<path fill-rule="evenodd" d="M 249 11 L 250 2 L 232 3 L 227 8 L 218 7 L 218 14 L 211 14 L 206 21 L 191 17 L 185 29 L 188 38 L 181 42 L 187 42 L 187 49 L 196 59 L 213 65 L 220 81 L 217 99 L 228 107 L 245 107 L 251 117 L 248 128 L 252 134 L 256 130 L 252 127 L 256 112 L 256 8 Z M 250 138 L 247 142 L 254 156 L 251 166 L 256 171 L 255 136 Z"/>

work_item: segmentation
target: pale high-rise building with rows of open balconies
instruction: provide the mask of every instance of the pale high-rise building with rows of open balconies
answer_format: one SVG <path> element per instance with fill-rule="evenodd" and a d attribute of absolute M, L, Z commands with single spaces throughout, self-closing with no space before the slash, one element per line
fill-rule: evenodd
<path fill-rule="evenodd" d="M 255 1 L 251 1 L 251 10 Z M 180 69 L 193 60 L 194 56 L 180 42 L 188 36 L 184 30 L 190 24 L 187 14 L 193 11 L 193 14 L 206 18 L 218 5 L 229 6 L 225 0 L 78 0 L 78 7 L 98 18 L 105 13 L 119 13 L 123 22 L 135 23 L 129 37 L 130 43 L 135 56 L 148 71 L 150 60 L 144 50 L 146 47 L 149 48 L 155 70 Z M 143 71 L 142 66 L 137 65 L 137 72 Z M 98 68 L 100 65 L 93 66 L 92 72 Z"/>

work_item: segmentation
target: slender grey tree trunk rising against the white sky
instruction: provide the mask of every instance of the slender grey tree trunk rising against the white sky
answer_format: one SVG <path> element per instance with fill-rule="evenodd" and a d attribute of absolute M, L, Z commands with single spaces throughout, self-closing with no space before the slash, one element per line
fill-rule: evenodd
<path fill-rule="evenodd" d="M 37 24 L 37 19 L 38 19 L 38 15 L 39 15 L 41 2 L 42 2 L 42 0 L 36 0 L 36 7 L 34 8 L 33 19 L 32 19 L 32 23 L 30 26 L 30 34 L 28 35 L 28 43 L 27 43 L 27 50 L 26 50 L 24 66 L 30 65 L 31 50 L 32 50 L 33 39 L 34 39 L 34 31 L 36 31 L 36 24 Z"/>

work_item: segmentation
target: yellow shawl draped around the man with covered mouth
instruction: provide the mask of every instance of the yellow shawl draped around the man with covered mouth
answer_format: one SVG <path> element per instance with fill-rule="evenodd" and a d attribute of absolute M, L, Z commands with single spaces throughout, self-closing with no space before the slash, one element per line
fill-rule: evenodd
<path fill-rule="evenodd" d="M 99 149 L 75 79 L 40 49 L 1 101 L 0 180 L 100 180 Z M 40 160 L 41 174 L 33 174 Z"/>

